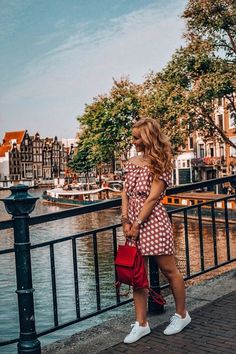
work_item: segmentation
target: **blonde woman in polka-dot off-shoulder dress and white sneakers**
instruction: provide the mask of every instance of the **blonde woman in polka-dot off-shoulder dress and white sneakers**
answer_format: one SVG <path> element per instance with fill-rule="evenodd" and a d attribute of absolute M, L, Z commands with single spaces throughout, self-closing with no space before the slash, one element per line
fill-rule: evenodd
<path fill-rule="evenodd" d="M 156 120 L 143 118 L 132 130 L 138 156 L 126 165 L 125 188 L 122 192 L 122 225 L 129 242 L 137 240 L 147 267 L 148 256 L 156 256 L 162 273 L 168 279 L 176 305 L 176 313 L 164 334 L 176 334 L 190 322 L 185 307 L 185 285 L 175 264 L 173 230 L 161 200 L 171 183 L 172 155 L 168 138 Z M 151 332 L 147 322 L 147 289 L 133 292 L 136 322 L 125 337 L 133 343 Z"/>

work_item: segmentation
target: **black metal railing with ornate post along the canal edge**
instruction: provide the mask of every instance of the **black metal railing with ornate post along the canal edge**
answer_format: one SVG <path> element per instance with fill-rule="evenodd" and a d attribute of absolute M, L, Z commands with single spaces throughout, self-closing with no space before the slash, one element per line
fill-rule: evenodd
<path fill-rule="evenodd" d="M 167 190 L 167 195 L 187 192 L 195 190 L 197 188 L 211 187 L 217 184 L 222 184 L 225 182 L 231 182 L 236 185 L 236 176 L 225 177 L 221 179 L 215 179 L 205 182 L 199 182 L 192 185 L 184 185 L 180 187 L 170 188 Z M 111 232 L 112 239 L 112 257 L 114 259 L 116 255 L 118 232 L 120 231 L 121 224 L 109 225 L 103 228 L 89 230 L 86 232 L 79 232 L 74 235 L 61 237 L 55 240 L 50 240 L 46 242 L 37 243 L 34 245 L 30 244 L 30 226 L 44 224 L 46 222 L 52 222 L 55 220 L 61 220 L 63 218 L 73 217 L 77 215 L 83 215 L 86 213 L 91 213 L 94 211 L 105 210 L 121 205 L 121 200 L 110 200 L 106 202 L 99 202 L 94 205 L 83 206 L 78 208 L 73 208 L 69 210 L 64 210 L 61 212 L 29 217 L 29 214 L 33 210 L 37 198 L 33 198 L 27 192 L 28 188 L 26 186 L 16 186 L 11 188 L 11 196 L 4 199 L 4 203 L 7 211 L 12 214 L 12 220 L 0 222 L 0 230 L 6 230 L 9 228 L 14 229 L 14 248 L 0 250 L 0 255 L 7 253 L 15 253 L 16 262 L 16 280 L 17 280 L 17 296 L 18 296 L 18 309 L 19 309 L 19 323 L 20 323 L 20 336 L 19 338 L 9 339 L 0 342 L 0 346 L 5 346 L 11 343 L 18 342 L 18 353 L 41 353 L 41 346 L 38 337 L 45 334 L 51 333 L 58 329 L 62 329 L 66 326 L 78 323 L 85 319 L 91 318 L 105 311 L 114 309 L 116 307 L 122 306 L 132 301 L 131 298 L 123 300 L 120 295 L 114 290 L 113 303 L 108 305 L 103 305 L 101 301 L 101 284 L 100 284 L 100 270 L 99 270 L 99 252 L 98 252 L 98 238 L 103 232 Z M 168 214 L 173 222 L 176 218 L 181 218 L 184 225 L 184 243 L 185 243 L 185 275 L 184 279 L 191 279 L 197 277 L 201 274 L 209 272 L 213 269 L 217 269 L 221 266 L 234 262 L 236 256 L 232 254 L 231 243 L 231 224 L 235 221 L 232 218 L 236 214 L 231 212 L 229 218 L 229 210 L 227 202 L 230 199 L 235 199 L 236 194 L 231 196 L 224 196 L 214 200 L 210 200 L 204 203 L 199 203 L 197 205 L 179 207 L 176 209 L 168 210 Z M 220 212 L 216 209 L 217 204 L 222 202 L 224 207 Z M 199 259 L 200 259 L 200 270 L 191 270 L 191 245 L 189 244 L 189 220 L 195 220 L 198 224 L 198 237 L 199 237 Z M 213 265 L 206 266 L 204 259 L 204 235 L 203 226 L 204 223 L 210 222 L 212 229 L 212 242 L 213 242 L 213 254 L 214 262 Z M 223 223 L 226 238 L 226 251 L 227 257 L 223 261 L 218 259 L 218 247 L 217 247 L 217 235 L 216 235 L 216 225 L 217 223 Z M 85 237 L 90 237 L 92 239 L 92 249 L 93 249 L 93 263 L 94 263 L 94 279 L 95 279 L 95 298 L 96 298 L 96 309 L 88 313 L 82 314 L 81 309 L 81 283 L 78 272 L 78 240 Z M 75 316 L 73 319 L 68 321 L 61 321 L 59 318 L 59 308 L 58 308 L 58 294 L 57 294 L 57 265 L 55 262 L 55 247 L 58 244 L 64 245 L 65 243 L 70 243 L 71 254 L 72 254 L 72 269 L 73 269 L 73 287 L 74 287 L 74 304 L 75 304 Z M 36 333 L 35 330 L 35 316 L 34 316 L 34 302 L 33 302 L 33 284 L 32 284 L 32 264 L 31 264 L 31 254 L 33 250 L 49 250 L 50 259 L 50 275 L 51 275 L 51 294 L 52 294 L 52 309 L 53 309 L 53 324 L 48 328 Z M 111 282 L 115 282 L 115 272 L 113 262 L 110 265 Z M 160 291 L 160 289 L 165 289 L 169 284 L 159 283 L 158 269 L 153 261 L 153 257 L 150 257 L 150 285 L 153 289 Z M 150 311 L 163 311 L 163 307 L 158 307 L 149 301 Z"/>

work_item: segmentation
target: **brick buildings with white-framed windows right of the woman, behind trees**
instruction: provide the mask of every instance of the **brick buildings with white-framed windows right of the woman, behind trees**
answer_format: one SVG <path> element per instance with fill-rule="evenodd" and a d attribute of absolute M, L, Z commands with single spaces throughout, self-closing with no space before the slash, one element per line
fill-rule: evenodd
<path fill-rule="evenodd" d="M 236 144 L 236 112 L 226 98 L 214 102 L 214 121 Z M 236 149 L 222 139 L 190 134 L 186 147 L 175 159 L 174 184 L 185 184 L 236 174 Z"/>

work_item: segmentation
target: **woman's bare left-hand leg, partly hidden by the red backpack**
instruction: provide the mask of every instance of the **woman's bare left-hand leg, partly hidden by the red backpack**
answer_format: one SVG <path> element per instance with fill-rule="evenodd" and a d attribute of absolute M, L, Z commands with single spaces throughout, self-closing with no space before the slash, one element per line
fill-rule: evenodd
<path fill-rule="evenodd" d="M 147 270 L 148 257 L 144 257 L 144 263 Z M 136 321 L 140 326 L 145 326 L 147 323 L 147 289 L 137 289 L 133 291 L 134 308 Z"/>

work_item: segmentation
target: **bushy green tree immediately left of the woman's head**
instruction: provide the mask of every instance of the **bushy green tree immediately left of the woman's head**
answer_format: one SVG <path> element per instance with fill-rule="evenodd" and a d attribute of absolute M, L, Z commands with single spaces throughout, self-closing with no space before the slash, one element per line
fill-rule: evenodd
<path fill-rule="evenodd" d="M 131 125 L 139 112 L 139 88 L 129 79 L 114 80 L 109 94 L 94 98 L 78 117 L 80 126 L 89 132 L 90 158 L 97 164 L 113 162 L 126 154 L 130 146 Z M 114 165 L 114 164 L 113 164 Z"/>

